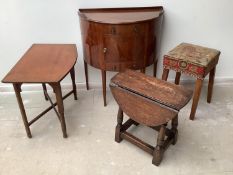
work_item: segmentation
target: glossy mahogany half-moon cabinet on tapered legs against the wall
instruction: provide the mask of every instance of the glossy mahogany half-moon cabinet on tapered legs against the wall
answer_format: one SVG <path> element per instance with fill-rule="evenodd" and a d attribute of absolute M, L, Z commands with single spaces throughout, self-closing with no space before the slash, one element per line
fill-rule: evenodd
<path fill-rule="evenodd" d="M 163 7 L 79 9 L 86 86 L 87 64 L 101 69 L 104 106 L 106 71 L 140 69 L 158 59 Z"/>

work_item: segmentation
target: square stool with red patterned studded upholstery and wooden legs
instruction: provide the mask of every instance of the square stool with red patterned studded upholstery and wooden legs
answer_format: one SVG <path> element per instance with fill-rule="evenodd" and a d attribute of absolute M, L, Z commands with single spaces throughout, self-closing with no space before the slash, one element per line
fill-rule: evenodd
<path fill-rule="evenodd" d="M 190 114 L 191 120 L 194 120 L 195 117 L 203 80 L 209 73 L 207 102 L 211 102 L 215 70 L 219 56 L 220 51 L 218 50 L 188 43 L 181 43 L 164 55 L 163 80 L 167 80 L 170 69 L 176 71 L 175 84 L 179 84 L 181 73 L 191 75 L 197 79 Z"/>

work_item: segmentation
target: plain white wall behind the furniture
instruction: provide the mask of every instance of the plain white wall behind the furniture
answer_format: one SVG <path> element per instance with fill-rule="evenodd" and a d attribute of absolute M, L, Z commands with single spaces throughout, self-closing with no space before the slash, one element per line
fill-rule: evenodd
<path fill-rule="evenodd" d="M 76 43 L 76 82 L 82 84 L 85 79 L 78 9 L 156 5 L 165 10 L 158 77 L 162 55 L 180 42 L 191 42 L 219 49 L 222 54 L 216 78 L 233 80 L 232 0 L 0 0 L 0 79 L 32 43 Z M 151 72 L 152 67 L 147 69 L 148 74 Z M 108 81 L 112 75 L 108 73 Z M 99 70 L 90 68 L 89 77 L 90 84 L 100 84 Z"/>

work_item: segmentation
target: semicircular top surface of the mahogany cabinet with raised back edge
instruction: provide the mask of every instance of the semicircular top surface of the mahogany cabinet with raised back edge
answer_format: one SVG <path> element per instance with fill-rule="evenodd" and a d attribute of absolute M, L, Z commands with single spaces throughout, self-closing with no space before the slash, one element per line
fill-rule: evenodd
<path fill-rule="evenodd" d="M 80 17 L 107 24 L 142 22 L 158 18 L 162 14 L 163 7 L 79 9 Z"/>

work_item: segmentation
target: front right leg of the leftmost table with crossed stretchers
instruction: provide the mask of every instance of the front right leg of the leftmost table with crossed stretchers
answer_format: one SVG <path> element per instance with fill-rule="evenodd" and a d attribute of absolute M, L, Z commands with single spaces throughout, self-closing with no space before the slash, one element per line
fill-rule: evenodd
<path fill-rule="evenodd" d="M 61 91 L 61 85 L 60 83 L 55 83 L 51 85 L 54 89 L 54 92 L 56 94 L 56 100 L 57 100 L 57 107 L 59 112 L 59 118 L 61 122 L 61 128 L 63 137 L 67 138 L 67 132 L 66 132 L 66 122 L 64 117 L 64 105 L 63 105 L 63 99 L 62 99 L 62 91 Z"/>

